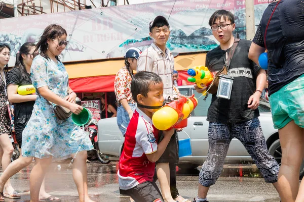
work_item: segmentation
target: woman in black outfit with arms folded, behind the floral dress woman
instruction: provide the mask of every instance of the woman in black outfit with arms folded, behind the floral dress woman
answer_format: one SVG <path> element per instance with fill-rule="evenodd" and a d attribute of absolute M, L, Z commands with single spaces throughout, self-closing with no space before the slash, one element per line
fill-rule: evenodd
<path fill-rule="evenodd" d="M 37 95 L 21 95 L 18 94 L 17 90 L 19 86 L 32 84 L 30 79 L 30 67 L 36 56 L 34 51 L 34 43 L 24 43 L 17 53 L 15 67 L 9 71 L 7 78 L 8 99 L 11 103 L 14 103 L 15 134 L 20 151 L 22 145 L 22 132 L 32 114 Z M 22 168 L 28 166 L 31 161 L 32 158 L 23 158 L 21 156 L 19 159 L 12 162 L 0 177 L 0 190 L 3 189 L 3 185 L 10 177 L 19 172 Z M 53 197 L 45 191 L 44 182 L 39 192 L 39 199 L 45 201 L 61 201 L 61 199 Z"/>

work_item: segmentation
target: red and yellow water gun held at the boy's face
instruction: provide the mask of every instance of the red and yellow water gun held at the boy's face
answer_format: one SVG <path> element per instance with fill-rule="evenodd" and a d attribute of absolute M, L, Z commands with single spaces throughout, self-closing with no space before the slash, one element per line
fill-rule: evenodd
<path fill-rule="evenodd" d="M 197 105 L 198 100 L 194 95 L 173 100 L 154 113 L 153 125 L 159 130 L 184 128 L 187 126 L 188 116 Z"/>

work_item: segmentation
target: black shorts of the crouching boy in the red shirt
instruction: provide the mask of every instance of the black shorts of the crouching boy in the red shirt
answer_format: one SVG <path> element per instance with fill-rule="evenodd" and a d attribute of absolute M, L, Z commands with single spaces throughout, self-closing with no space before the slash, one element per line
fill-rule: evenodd
<path fill-rule="evenodd" d="M 135 202 L 164 202 L 161 191 L 154 181 L 143 182 L 131 189 L 121 190 L 121 193 L 131 196 Z"/>

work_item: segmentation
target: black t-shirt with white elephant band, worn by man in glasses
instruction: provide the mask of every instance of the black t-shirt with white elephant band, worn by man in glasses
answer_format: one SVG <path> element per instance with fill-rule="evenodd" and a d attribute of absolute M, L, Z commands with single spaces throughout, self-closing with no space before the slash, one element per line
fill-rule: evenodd
<path fill-rule="evenodd" d="M 248 108 L 249 97 L 254 93 L 255 79 L 261 70 L 248 58 L 251 45 L 249 40 L 240 40 L 231 60 L 227 75 L 234 77 L 230 99 L 212 95 L 207 121 L 220 123 L 237 123 L 251 120 L 259 116 L 258 109 Z M 220 46 L 214 48 L 206 56 L 206 67 L 217 72 L 224 65 L 224 56 L 230 49 L 223 51 Z"/>

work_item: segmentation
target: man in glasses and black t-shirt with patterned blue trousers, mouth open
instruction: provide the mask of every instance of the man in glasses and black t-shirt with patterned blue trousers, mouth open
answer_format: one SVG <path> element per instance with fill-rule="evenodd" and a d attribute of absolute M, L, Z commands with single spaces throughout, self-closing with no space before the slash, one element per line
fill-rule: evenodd
<path fill-rule="evenodd" d="M 216 73 L 223 68 L 234 44 L 235 20 L 232 13 L 216 11 L 209 20 L 213 36 L 220 45 L 206 56 L 206 67 Z M 229 66 L 228 75 L 234 77 L 231 98 L 212 95 L 208 110 L 209 150 L 199 177 L 196 202 L 207 201 L 209 187 L 218 179 L 231 140 L 235 137 L 246 147 L 265 181 L 277 186 L 279 166 L 268 153 L 258 120 L 259 98 L 265 84 L 265 71 L 248 59 L 251 41 L 240 40 Z M 201 93 L 206 87 L 196 90 Z"/>

